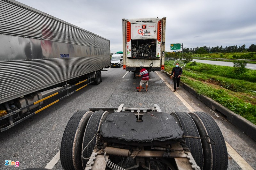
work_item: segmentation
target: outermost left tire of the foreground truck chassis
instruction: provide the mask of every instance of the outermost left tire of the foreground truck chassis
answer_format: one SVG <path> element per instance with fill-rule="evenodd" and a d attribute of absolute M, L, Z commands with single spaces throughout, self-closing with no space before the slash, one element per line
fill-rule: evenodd
<path fill-rule="evenodd" d="M 60 145 L 60 162 L 65 170 L 82 169 L 81 149 L 86 124 L 92 111 L 77 111 L 68 121 Z"/>

